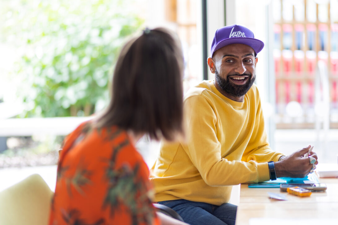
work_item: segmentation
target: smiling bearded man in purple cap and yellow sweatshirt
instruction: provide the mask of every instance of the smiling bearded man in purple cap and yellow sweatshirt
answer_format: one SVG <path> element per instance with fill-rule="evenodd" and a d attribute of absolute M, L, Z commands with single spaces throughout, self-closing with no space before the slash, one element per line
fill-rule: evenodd
<path fill-rule="evenodd" d="M 232 185 L 304 177 L 315 167 L 303 157 L 310 145 L 287 157 L 269 146 L 254 84 L 263 47 L 246 27 L 218 29 L 208 58 L 215 80 L 202 81 L 184 98 L 186 139 L 161 144 L 150 176 L 155 201 L 186 223 L 234 224 Z"/>

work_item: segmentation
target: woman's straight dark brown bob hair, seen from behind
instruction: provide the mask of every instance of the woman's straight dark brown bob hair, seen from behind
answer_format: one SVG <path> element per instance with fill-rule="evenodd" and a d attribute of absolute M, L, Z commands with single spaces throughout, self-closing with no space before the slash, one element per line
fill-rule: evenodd
<path fill-rule="evenodd" d="M 96 120 L 151 139 L 183 133 L 184 59 L 178 38 L 165 28 L 145 29 L 122 48 L 113 74 L 111 102 Z"/>

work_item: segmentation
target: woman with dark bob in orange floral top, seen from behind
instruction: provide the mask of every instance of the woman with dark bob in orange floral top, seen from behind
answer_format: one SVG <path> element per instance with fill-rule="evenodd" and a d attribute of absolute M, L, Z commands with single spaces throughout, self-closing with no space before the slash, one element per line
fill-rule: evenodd
<path fill-rule="evenodd" d="M 155 213 L 149 170 L 135 149 L 143 135 L 182 135 L 183 61 L 164 28 L 123 47 L 109 106 L 64 140 L 50 225 L 185 224 Z"/>

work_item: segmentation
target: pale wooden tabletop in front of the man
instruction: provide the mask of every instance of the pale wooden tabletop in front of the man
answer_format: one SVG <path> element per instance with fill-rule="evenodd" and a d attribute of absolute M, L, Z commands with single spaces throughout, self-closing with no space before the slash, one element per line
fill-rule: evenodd
<path fill-rule="evenodd" d="M 338 179 L 320 178 L 326 183 L 325 192 L 313 192 L 310 197 L 298 197 L 281 192 L 279 188 L 248 188 L 242 184 L 237 209 L 236 225 L 271 224 L 272 221 L 284 221 L 285 225 L 319 222 L 320 224 L 338 224 Z M 267 192 L 284 194 L 288 200 L 271 199 Z M 304 223 L 303 223 L 304 222 Z M 276 223 L 273 223 L 275 225 Z M 272 224 L 271 224 L 272 225 Z"/>

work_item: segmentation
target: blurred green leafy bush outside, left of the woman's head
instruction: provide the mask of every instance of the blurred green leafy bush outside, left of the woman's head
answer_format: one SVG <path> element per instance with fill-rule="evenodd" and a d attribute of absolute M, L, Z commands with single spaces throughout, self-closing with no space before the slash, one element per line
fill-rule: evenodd
<path fill-rule="evenodd" d="M 86 116 L 108 102 L 120 47 L 143 20 L 132 0 L 0 0 L 1 39 L 19 54 L 21 116 Z"/>

